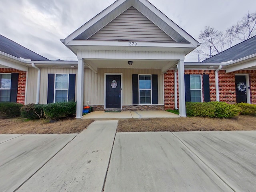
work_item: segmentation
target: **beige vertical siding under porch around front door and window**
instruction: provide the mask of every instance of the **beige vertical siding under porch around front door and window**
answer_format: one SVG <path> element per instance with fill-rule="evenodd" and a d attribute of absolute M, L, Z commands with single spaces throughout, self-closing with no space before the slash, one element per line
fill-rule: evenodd
<path fill-rule="evenodd" d="M 132 105 L 132 74 L 157 74 L 158 104 L 164 104 L 163 74 L 160 69 L 98 69 L 98 74 L 95 74 L 87 68 L 84 71 L 84 104 L 89 101 L 91 105 L 104 105 L 105 73 L 122 73 L 123 105 Z"/>

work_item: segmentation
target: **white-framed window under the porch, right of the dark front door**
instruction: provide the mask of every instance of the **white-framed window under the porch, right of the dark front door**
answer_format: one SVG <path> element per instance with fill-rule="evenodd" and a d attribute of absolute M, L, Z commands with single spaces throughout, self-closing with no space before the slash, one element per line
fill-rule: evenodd
<path fill-rule="evenodd" d="M 139 104 L 152 104 L 151 75 L 139 75 Z"/>

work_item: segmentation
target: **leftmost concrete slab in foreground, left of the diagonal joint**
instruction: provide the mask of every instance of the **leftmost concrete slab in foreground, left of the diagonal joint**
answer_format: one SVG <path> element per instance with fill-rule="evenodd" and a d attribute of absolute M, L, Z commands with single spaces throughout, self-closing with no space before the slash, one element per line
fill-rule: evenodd
<path fill-rule="evenodd" d="M 76 135 L 0 135 L 0 191 L 16 190 Z"/>

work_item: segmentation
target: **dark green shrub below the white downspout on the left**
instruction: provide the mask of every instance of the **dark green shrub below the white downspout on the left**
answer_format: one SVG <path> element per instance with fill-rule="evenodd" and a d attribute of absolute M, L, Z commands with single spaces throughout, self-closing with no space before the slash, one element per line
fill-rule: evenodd
<path fill-rule="evenodd" d="M 43 110 L 44 106 L 45 106 L 44 104 L 34 104 L 34 103 L 24 105 L 20 109 L 20 114 L 22 117 L 28 118 L 28 119 L 42 119 L 44 118 L 44 110 Z"/>

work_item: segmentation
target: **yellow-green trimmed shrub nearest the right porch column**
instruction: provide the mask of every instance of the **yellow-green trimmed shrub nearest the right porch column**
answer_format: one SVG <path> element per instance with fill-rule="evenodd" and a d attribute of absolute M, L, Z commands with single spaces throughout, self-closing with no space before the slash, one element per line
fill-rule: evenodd
<path fill-rule="evenodd" d="M 186 102 L 188 116 L 214 117 L 215 108 L 208 103 Z"/>

